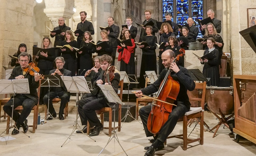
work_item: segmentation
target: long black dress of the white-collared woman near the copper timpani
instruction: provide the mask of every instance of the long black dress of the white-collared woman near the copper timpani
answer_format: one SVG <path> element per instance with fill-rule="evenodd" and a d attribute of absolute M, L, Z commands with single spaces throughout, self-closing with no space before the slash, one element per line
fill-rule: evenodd
<path fill-rule="evenodd" d="M 205 50 L 203 55 L 209 53 L 209 49 Z M 214 49 L 211 51 L 216 58 L 213 60 L 208 60 L 208 63 L 201 63 L 204 64 L 203 66 L 203 75 L 206 78 L 211 78 L 209 82 L 206 82 L 207 86 L 219 86 L 219 51 Z"/>

